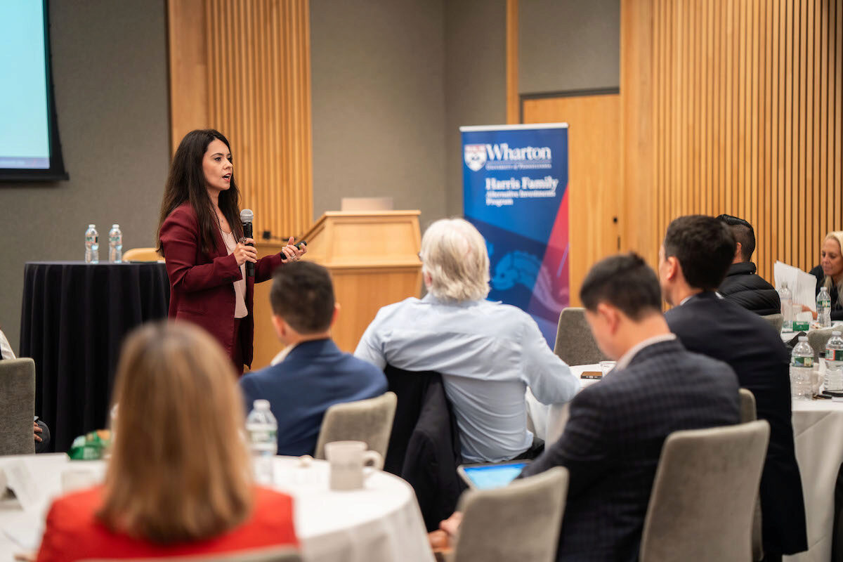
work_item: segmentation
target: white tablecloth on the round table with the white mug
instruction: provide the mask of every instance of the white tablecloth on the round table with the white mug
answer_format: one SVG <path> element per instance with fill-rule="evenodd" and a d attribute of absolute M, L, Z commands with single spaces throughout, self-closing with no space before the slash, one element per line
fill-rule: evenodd
<path fill-rule="evenodd" d="M 12 458 L 0 460 L 3 462 Z M 17 500 L 0 501 L 0 562 L 24 551 L 18 541 L 37 544 L 49 498 L 60 494 L 62 470 L 87 467 L 103 473 L 103 463 L 68 462 L 65 455 L 30 456 L 25 462 L 43 484 L 44 505 L 25 513 Z M 293 496 L 296 534 L 305 562 L 432 562 L 416 495 L 404 480 L 377 471 L 363 490 L 328 489 L 328 463 L 303 468 L 298 458 L 276 458 L 276 488 Z M 28 531 L 29 530 L 29 531 Z M 29 535 L 29 536 L 27 536 Z"/>

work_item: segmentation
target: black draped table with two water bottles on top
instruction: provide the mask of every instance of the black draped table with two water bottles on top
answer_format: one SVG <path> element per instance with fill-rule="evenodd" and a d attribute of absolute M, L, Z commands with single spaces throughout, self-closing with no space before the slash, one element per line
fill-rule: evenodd
<path fill-rule="evenodd" d="M 168 306 L 161 263 L 26 264 L 20 356 L 35 360 L 35 415 L 50 426 L 55 451 L 107 426 L 124 336 L 166 318 Z"/>

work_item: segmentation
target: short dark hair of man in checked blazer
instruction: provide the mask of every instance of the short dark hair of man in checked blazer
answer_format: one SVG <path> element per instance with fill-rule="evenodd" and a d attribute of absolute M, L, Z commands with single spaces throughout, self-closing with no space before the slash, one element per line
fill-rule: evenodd
<path fill-rule="evenodd" d="M 662 312 L 662 289 L 656 272 L 632 252 L 594 264 L 580 287 L 580 300 L 590 312 L 606 302 L 633 320 Z"/>

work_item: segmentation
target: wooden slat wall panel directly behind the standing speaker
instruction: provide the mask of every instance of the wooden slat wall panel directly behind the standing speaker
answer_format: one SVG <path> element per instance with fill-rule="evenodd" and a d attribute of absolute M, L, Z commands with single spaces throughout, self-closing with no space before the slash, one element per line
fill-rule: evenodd
<path fill-rule="evenodd" d="M 168 10 L 173 150 L 191 129 L 222 131 L 255 238 L 302 234 L 313 219 L 309 0 L 170 0 Z"/>

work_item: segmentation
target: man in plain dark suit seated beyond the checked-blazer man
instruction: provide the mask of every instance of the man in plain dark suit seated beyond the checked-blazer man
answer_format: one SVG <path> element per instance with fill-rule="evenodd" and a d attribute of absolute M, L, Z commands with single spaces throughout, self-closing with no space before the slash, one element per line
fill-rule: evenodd
<path fill-rule="evenodd" d="M 689 351 L 725 361 L 755 395 L 770 422 L 761 475 L 765 560 L 808 548 L 802 480 L 793 447 L 789 356 L 764 319 L 715 293 L 735 253 L 732 233 L 713 217 L 679 217 L 659 250 L 658 270 L 670 329 Z"/>

